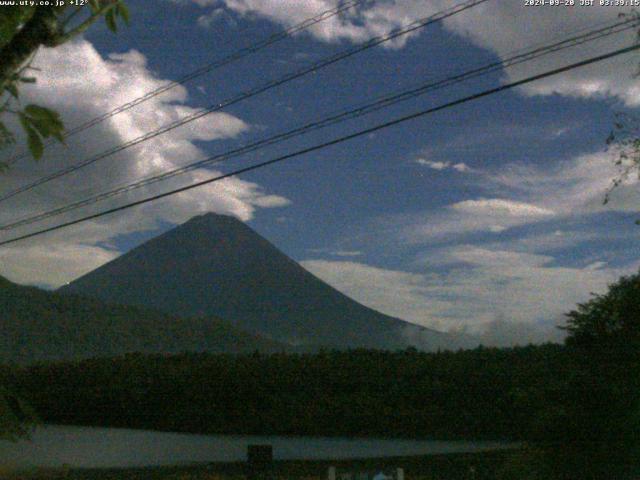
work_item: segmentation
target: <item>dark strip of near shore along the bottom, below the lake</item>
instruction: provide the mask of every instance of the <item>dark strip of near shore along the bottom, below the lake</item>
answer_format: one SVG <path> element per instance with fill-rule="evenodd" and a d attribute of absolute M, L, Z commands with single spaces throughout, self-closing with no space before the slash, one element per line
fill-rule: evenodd
<path fill-rule="evenodd" d="M 274 463 L 275 479 L 325 479 L 329 466 L 340 473 L 391 471 L 402 467 L 406 480 L 488 480 L 504 476 L 513 451 L 428 455 L 421 457 L 390 457 L 341 461 L 279 461 Z M 506 471 L 504 472 L 506 473 Z M 7 475 L 7 476 L 5 476 Z M 245 479 L 243 463 L 215 463 L 197 466 L 150 467 L 104 470 L 34 470 L 20 474 L 5 474 L 7 480 L 231 480 Z"/>

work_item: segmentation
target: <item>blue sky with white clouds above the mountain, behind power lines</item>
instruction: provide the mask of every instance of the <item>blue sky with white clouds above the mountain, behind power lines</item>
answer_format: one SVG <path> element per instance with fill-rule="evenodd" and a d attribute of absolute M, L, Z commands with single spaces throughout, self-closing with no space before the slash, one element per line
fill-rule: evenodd
<path fill-rule="evenodd" d="M 338 0 L 129 0 L 131 24 L 102 23 L 34 60 L 24 102 L 78 125 L 208 62 L 334 8 Z M 458 3 L 458 2 L 456 2 Z M 380 96 L 462 73 L 614 21 L 614 7 L 488 0 L 190 122 L 2 203 L 2 224 L 288 131 Z M 579 3 L 579 2 L 576 2 Z M 22 159 L 0 194 L 198 109 L 450 8 L 365 1 Z M 202 167 L 28 227 L 265 161 L 631 45 L 629 30 L 443 88 L 361 118 Z M 234 215 L 306 269 L 383 313 L 485 344 L 559 340 L 564 313 L 638 271 L 640 186 L 605 140 L 640 107 L 638 54 L 550 77 L 223 182 L 0 247 L 0 275 L 55 288 L 208 211 Z M 13 124 L 16 132 L 19 128 Z M 22 139 L 19 139 L 18 144 Z M 19 152 L 17 147 L 15 152 Z M 11 156 L 13 151 L 3 152 Z"/>

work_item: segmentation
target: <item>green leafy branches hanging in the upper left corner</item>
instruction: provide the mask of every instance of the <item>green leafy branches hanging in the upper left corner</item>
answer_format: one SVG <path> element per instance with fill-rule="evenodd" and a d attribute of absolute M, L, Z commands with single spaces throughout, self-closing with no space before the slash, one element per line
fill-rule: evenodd
<path fill-rule="evenodd" d="M 0 12 L 0 148 L 15 143 L 14 133 L 3 117 L 15 115 L 27 135 L 29 151 L 35 159 L 42 156 L 43 140 L 53 137 L 64 141 L 64 125 L 60 116 L 39 105 L 20 104 L 20 87 L 33 83 L 31 71 L 34 55 L 41 47 L 57 47 L 85 32 L 98 18 L 104 17 L 112 31 L 116 19 L 129 21 L 123 0 L 89 0 L 87 6 L 70 2 L 50 2 L 46 6 L 3 7 Z M 0 171 L 6 170 L 0 161 Z"/>

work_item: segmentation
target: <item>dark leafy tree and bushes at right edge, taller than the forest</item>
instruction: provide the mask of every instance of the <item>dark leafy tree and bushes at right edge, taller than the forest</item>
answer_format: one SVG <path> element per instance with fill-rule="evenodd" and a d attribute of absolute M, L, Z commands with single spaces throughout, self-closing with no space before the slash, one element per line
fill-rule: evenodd
<path fill-rule="evenodd" d="M 566 314 L 560 387 L 531 416 L 527 449 L 499 478 L 618 480 L 640 474 L 640 273 Z"/>

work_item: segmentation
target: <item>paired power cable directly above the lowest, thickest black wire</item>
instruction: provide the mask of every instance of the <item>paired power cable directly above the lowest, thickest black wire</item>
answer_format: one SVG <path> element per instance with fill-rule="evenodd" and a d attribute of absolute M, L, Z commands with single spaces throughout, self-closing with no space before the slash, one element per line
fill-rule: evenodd
<path fill-rule="evenodd" d="M 499 71 L 505 68 L 509 68 L 509 67 L 513 67 L 515 65 L 519 65 L 525 62 L 530 62 L 532 60 L 535 60 L 537 58 L 540 58 L 542 56 L 545 55 L 549 55 L 551 53 L 556 53 L 562 50 L 565 50 L 567 48 L 571 48 L 577 45 L 582 45 L 585 44 L 587 42 L 592 42 L 595 40 L 599 40 L 601 38 L 604 37 L 608 37 L 610 35 L 614 35 L 614 34 L 618 34 L 618 33 L 622 33 L 624 31 L 630 30 L 632 28 L 635 28 L 638 24 L 639 24 L 639 20 L 638 19 L 627 19 L 627 20 L 622 20 L 622 21 L 618 21 L 615 22 L 613 24 L 609 24 L 603 28 L 599 28 L 597 30 L 593 30 L 593 31 L 589 31 L 586 32 L 582 35 L 577 35 L 574 37 L 570 37 L 567 38 L 565 40 L 562 40 L 560 42 L 556 42 L 550 45 L 546 45 L 543 47 L 539 47 L 539 48 L 534 48 L 533 50 L 530 51 L 525 51 L 523 53 L 519 53 L 517 55 L 514 55 L 512 57 L 509 58 L 505 58 L 502 61 L 497 61 L 497 62 L 493 62 L 490 63 L 488 65 L 479 67 L 479 68 L 475 68 L 472 69 L 470 71 L 458 74 L 458 75 L 454 75 L 454 76 L 450 76 L 450 77 L 446 77 L 444 79 L 435 81 L 435 82 L 430 82 L 430 83 L 426 83 L 426 84 L 422 84 L 420 86 L 418 86 L 417 88 L 413 88 L 410 90 L 406 90 L 400 93 L 396 93 L 396 94 L 392 94 L 392 95 L 386 95 L 383 96 L 381 98 L 379 98 L 378 100 L 374 101 L 374 102 L 370 102 L 361 106 L 358 106 L 356 108 L 352 108 L 350 110 L 347 111 L 342 111 L 338 114 L 334 114 L 334 115 L 330 115 L 328 117 L 325 117 L 321 120 L 315 121 L 315 122 L 311 122 L 308 123 L 306 125 L 303 125 L 301 127 L 295 128 L 293 130 L 289 130 L 287 132 L 284 133 L 280 133 L 277 135 L 274 135 L 272 137 L 266 138 L 266 139 L 262 139 L 259 140 L 257 142 L 251 143 L 249 145 L 240 147 L 240 148 L 236 148 L 233 150 L 229 150 L 227 152 L 218 154 L 218 155 L 214 155 L 211 157 L 208 157 L 206 159 L 203 160 L 199 160 L 193 163 L 190 163 L 188 165 L 184 165 L 182 167 L 178 167 L 172 170 L 168 170 L 165 172 L 161 172 L 159 174 L 156 175 L 152 175 L 150 177 L 138 180 L 136 182 L 133 183 L 129 183 L 126 184 L 124 186 L 97 194 L 97 195 L 93 195 L 91 197 L 52 209 L 52 210 L 48 210 L 46 212 L 41 212 L 35 215 L 31 215 L 31 216 L 27 216 L 27 217 L 23 217 L 22 219 L 18 219 L 15 220 L 11 223 L 8 224 L 4 224 L 4 225 L 0 225 L 0 230 L 2 231 L 7 231 L 7 230 L 13 230 L 15 228 L 21 227 L 21 226 L 25 226 L 25 225 L 29 225 L 41 220 L 45 220 L 54 216 L 58 216 L 61 215 L 63 213 L 67 213 L 70 212 L 72 210 L 76 210 L 78 208 L 84 207 L 84 206 L 88 206 L 94 203 L 97 203 L 99 201 L 108 199 L 108 198 L 112 198 L 114 196 L 120 195 L 122 193 L 127 193 L 130 192 L 132 190 L 136 190 L 138 188 L 142 188 L 144 186 L 147 185 L 151 185 L 153 183 L 157 183 L 157 182 L 161 182 L 161 181 L 165 181 L 168 180 L 169 178 L 173 178 L 177 175 L 181 175 L 183 173 L 195 170 L 196 168 L 200 168 L 202 166 L 205 165 L 210 165 L 213 163 L 220 163 L 222 161 L 228 160 L 230 158 L 233 157 L 237 157 L 239 155 L 243 155 L 249 152 L 253 152 L 259 149 L 262 149 L 264 147 L 270 146 L 270 145 L 274 145 L 276 143 L 280 143 L 284 140 L 288 140 L 290 138 L 293 137 L 297 137 L 303 134 L 306 134 L 310 131 L 314 131 L 314 130 L 318 130 L 320 128 L 325 128 L 328 127 L 330 125 L 334 125 L 336 123 L 341 123 L 343 121 L 346 120 L 351 120 L 354 118 L 358 118 L 361 117 L 363 115 L 378 111 L 382 108 L 386 108 L 389 107 L 391 105 L 394 105 L 396 103 L 402 102 L 402 101 L 406 101 L 412 98 L 416 98 L 420 95 L 423 95 L 427 92 L 431 92 L 440 88 L 445 88 L 463 81 L 467 81 L 469 79 L 472 78 L 477 78 L 479 76 L 482 75 L 486 75 L 488 73 L 491 72 L 495 72 L 495 71 Z"/>

